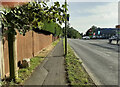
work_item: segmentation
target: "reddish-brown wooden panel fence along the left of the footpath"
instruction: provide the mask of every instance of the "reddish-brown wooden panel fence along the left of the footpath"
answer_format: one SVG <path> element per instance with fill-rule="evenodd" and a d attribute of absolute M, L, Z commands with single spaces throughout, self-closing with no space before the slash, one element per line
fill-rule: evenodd
<path fill-rule="evenodd" d="M 17 34 L 17 60 L 22 61 L 24 58 L 31 58 L 37 55 L 40 50 L 50 45 L 53 41 L 58 39 L 52 34 L 43 34 L 29 31 L 25 36 Z M 4 50 L 4 67 L 5 75 L 9 76 L 9 52 L 7 35 L 4 36 L 3 41 Z"/>

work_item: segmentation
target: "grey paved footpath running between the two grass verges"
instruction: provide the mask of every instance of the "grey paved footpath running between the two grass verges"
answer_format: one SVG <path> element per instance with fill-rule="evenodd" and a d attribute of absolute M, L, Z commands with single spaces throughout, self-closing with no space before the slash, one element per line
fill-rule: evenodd
<path fill-rule="evenodd" d="M 24 85 L 67 85 L 62 40 L 25 81 Z"/>

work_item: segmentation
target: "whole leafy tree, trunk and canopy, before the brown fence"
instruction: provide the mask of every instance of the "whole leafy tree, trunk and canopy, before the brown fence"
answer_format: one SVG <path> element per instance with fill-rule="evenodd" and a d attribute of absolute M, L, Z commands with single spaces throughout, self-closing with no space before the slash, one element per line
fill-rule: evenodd
<path fill-rule="evenodd" d="M 47 23 L 59 23 L 61 25 L 65 22 L 65 9 L 63 4 L 60 6 L 59 2 L 54 2 L 54 5 L 49 7 L 45 2 L 30 2 L 28 4 L 18 6 L 15 8 L 9 8 L 2 14 L 2 21 L 7 30 L 4 33 L 8 34 L 8 46 L 9 46 L 9 66 L 10 66 L 10 78 L 15 80 L 15 35 L 16 30 L 25 35 L 29 30 L 42 30 Z M 51 32 L 52 30 L 50 30 Z"/>

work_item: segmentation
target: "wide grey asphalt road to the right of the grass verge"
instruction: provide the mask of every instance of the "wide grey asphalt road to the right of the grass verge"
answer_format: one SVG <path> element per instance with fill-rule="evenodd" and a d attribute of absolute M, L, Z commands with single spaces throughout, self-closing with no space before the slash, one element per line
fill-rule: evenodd
<path fill-rule="evenodd" d="M 97 85 L 118 85 L 118 46 L 108 40 L 68 39 Z"/>

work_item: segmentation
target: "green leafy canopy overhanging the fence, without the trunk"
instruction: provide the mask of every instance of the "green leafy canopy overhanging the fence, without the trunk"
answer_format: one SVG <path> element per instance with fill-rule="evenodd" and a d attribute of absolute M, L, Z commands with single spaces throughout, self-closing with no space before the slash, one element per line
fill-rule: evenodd
<path fill-rule="evenodd" d="M 55 25 L 59 23 L 60 25 L 65 21 L 65 6 L 60 6 L 59 2 L 54 2 L 54 5 L 49 7 L 45 2 L 30 2 L 28 4 L 6 9 L 5 14 L 2 14 L 2 20 L 5 27 L 8 28 L 7 33 L 15 32 L 15 29 L 19 31 L 20 34 L 25 34 L 27 31 L 32 29 L 42 29 L 47 23 L 52 23 L 50 25 L 52 29 L 56 29 Z M 56 24 L 54 24 L 54 23 Z M 57 27 L 59 28 L 59 27 Z M 57 29 L 59 31 L 59 29 Z M 47 30 L 54 33 L 54 30 Z M 56 33 L 58 35 L 58 33 Z"/>

